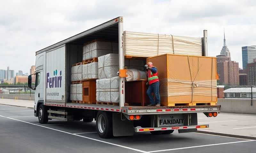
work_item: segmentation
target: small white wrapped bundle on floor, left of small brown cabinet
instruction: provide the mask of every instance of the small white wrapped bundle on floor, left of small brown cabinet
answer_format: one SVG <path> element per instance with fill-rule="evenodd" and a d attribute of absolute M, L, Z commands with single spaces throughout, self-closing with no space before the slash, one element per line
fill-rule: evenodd
<path fill-rule="evenodd" d="M 83 100 L 83 85 L 82 84 L 70 84 L 70 100 L 82 101 Z"/>

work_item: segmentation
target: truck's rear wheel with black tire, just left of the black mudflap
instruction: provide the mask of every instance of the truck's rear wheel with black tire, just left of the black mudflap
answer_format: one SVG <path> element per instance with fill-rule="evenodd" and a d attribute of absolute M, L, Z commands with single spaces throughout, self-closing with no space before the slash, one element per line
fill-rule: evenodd
<path fill-rule="evenodd" d="M 101 138 L 113 137 L 112 113 L 99 111 L 96 118 L 96 129 Z"/>

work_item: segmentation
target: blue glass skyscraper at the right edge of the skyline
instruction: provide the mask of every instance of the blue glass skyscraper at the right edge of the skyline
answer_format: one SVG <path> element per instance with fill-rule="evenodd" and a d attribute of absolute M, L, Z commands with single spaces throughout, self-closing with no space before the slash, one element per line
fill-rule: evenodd
<path fill-rule="evenodd" d="M 248 63 L 253 63 L 256 58 L 256 45 L 242 47 L 243 69 L 247 68 Z"/>

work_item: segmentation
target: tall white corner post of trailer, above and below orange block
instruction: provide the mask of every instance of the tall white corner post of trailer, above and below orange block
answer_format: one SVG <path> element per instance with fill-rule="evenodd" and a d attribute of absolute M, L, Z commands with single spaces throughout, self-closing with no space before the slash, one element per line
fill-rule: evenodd
<path fill-rule="evenodd" d="M 118 17 L 118 47 L 119 47 L 119 69 L 124 69 L 124 36 L 123 36 L 123 17 Z M 119 105 L 124 107 L 124 77 L 119 78 Z"/>

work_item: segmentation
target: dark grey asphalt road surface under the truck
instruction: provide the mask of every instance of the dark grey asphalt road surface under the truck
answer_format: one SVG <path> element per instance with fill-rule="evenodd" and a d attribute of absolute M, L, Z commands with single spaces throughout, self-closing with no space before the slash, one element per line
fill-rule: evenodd
<path fill-rule="evenodd" d="M 95 122 L 49 120 L 40 124 L 32 109 L 0 105 L 0 153 L 255 153 L 256 141 L 199 133 L 101 139 Z"/>

